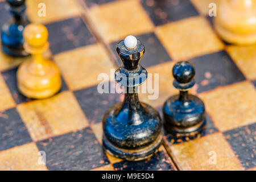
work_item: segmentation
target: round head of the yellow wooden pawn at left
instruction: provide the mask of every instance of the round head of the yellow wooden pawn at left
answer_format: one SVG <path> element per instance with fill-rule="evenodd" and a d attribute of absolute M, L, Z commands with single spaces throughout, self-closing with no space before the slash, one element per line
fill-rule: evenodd
<path fill-rule="evenodd" d="M 48 30 L 43 24 L 31 23 L 24 28 L 23 38 L 30 47 L 42 47 L 48 43 Z"/>

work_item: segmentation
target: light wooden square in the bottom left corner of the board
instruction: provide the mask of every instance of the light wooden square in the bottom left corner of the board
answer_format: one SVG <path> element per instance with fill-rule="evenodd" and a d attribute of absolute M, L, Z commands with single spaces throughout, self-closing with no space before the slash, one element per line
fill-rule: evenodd
<path fill-rule="evenodd" d="M 46 165 L 39 163 L 40 153 L 35 143 L 10 148 L 0 152 L 0 170 L 4 171 L 47 171 Z"/>

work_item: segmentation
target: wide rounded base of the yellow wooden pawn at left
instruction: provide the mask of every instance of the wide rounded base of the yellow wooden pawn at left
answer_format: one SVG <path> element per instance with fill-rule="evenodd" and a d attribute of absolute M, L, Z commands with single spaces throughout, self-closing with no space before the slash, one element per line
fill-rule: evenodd
<path fill-rule="evenodd" d="M 25 61 L 20 65 L 17 72 L 18 89 L 28 98 L 43 99 L 53 96 L 61 88 L 61 77 L 57 66 L 45 60 L 47 67 L 45 74 L 31 73 L 32 60 Z"/>

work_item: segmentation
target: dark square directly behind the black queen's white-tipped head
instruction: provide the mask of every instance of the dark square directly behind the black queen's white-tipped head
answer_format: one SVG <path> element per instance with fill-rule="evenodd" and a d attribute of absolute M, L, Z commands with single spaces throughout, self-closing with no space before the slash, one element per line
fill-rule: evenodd
<path fill-rule="evenodd" d="M 142 67 L 147 68 L 147 67 L 151 67 L 152 65 L 171 61 L 171 57 L 168 55 L 166 49 L 164 49 L 162 44 L 159 42 L 154 32 L 138 35 L 136 36 L 136 38 L 141 40 L 142 44 L 146 48 L 146 51 L 142 56 L 142 59 L 140 62 Z M 118 42 L 112 43 L 111 48 L 116 59 L 118 60 L 118 64 L 121 65 L 122 61 L 118 57 L 116 53 L 117 51 L 115 50 Z"/>

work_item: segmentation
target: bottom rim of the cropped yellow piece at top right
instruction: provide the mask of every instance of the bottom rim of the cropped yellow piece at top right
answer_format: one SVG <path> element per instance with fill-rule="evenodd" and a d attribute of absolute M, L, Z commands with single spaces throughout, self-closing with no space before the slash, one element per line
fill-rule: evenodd
<path fill-rule="evenodd" d="M 221 36 L 228 43 L 238 44 L 238 45 L 252 45 L 256 43 L 256 33 L 253 34 L 237 34 L 235 32 L 229 31 L 222 27 L 218 20 L 214 19 L 214 28 L 218 35 Z"/>

